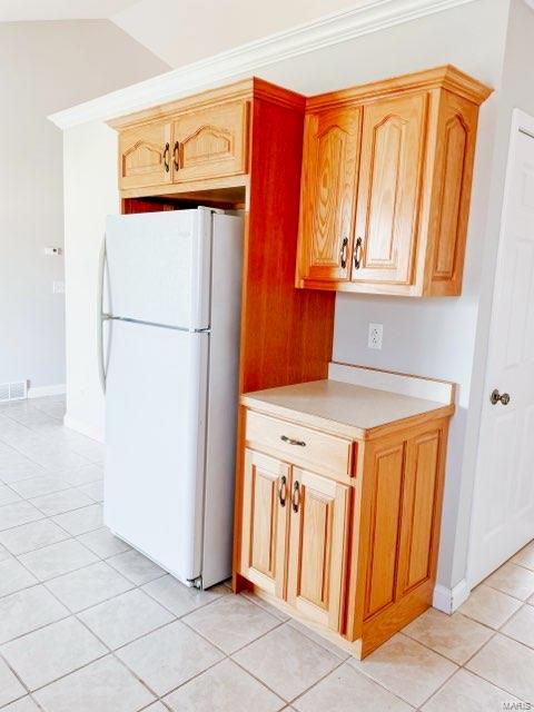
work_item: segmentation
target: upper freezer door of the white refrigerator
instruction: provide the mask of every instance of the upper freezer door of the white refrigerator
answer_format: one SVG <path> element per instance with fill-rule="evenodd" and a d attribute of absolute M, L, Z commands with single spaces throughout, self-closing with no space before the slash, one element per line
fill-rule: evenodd
<path fill-rule="evenodd" d="M 209 327 L 211 211 L 112 215 L 106 222 L 106 310 L 115 317 Z"/>

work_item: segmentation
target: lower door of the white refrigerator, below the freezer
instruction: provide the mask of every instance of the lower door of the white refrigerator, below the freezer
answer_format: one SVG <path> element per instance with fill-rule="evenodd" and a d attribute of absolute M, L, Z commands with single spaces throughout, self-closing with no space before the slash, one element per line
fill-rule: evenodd
<path fill-rule="evenodd" d="M 209 335 L 109 329 L 105 522 L 187 583 L 201 574 Z"/>

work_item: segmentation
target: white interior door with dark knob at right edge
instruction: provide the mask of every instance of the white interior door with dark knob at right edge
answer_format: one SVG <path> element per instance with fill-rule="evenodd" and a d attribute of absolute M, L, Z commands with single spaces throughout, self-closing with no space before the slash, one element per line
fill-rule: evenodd
<path fill-rule="evenodd" d="M 520 111 L 512 129 L 485 383 L 472 586 L 534 538 L 534 118 Z M 492 402 L 494 389 L 503 397 Z"/>

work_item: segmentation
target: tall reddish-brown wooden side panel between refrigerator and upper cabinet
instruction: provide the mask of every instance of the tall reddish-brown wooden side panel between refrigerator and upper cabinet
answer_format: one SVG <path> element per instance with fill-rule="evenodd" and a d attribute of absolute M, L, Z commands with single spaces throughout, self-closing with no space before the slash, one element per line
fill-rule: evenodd
<path fill-rule="evenodd" d="M 304 111 L 255 99 L 240 392 L 326 378 L 335 294 L 295 288 Z"/>

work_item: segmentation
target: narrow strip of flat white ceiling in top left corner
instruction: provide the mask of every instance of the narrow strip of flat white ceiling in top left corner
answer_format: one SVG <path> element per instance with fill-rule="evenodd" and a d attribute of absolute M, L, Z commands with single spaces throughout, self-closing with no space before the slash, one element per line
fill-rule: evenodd
<path fill-rule="evenodd" d="M 0 0 L 0 22 L 109 18 L 137 0 Z"/>

